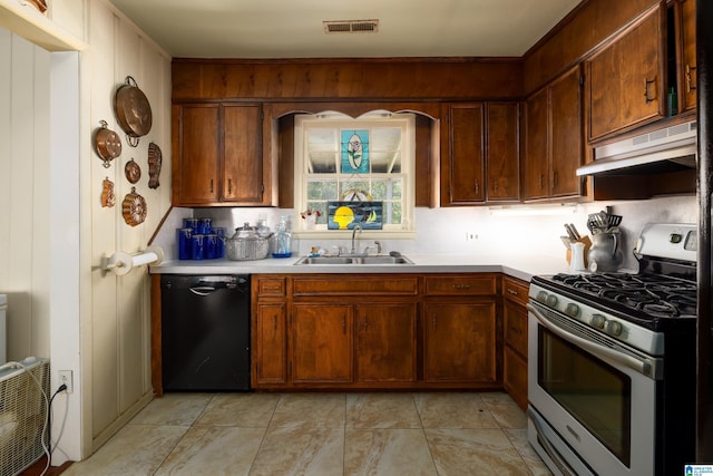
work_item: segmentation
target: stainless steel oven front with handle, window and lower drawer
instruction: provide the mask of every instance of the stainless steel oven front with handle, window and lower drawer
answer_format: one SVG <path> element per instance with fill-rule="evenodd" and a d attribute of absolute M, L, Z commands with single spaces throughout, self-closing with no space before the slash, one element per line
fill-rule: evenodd
<path fill-rule="evenodd" d="M 535 449 L 556 474 L 654 475 L 661 362 L 536 301 L 528 311 Z"/>

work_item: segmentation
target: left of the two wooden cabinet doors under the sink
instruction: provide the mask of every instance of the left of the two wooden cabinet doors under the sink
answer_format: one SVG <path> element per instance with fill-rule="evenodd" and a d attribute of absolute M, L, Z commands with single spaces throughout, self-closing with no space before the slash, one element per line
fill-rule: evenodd
<path fill-rule="evenodd" d="M 292 381 L 352 381 L 352 305 L 294 304 Z"/>

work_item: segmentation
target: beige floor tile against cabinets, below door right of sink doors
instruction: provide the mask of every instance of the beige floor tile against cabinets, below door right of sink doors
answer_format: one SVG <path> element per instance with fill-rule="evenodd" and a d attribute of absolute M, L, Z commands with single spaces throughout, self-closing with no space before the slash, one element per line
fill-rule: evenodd
<path fill-rule="evenodd" d="M 423 428 L 498 428 L 479 394 L 413 394 Z"/>

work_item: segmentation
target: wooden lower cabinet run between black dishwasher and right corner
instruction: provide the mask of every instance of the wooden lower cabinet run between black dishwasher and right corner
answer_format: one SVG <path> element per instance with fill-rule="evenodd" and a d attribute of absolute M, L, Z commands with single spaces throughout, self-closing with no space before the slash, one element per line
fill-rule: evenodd
<path fill-rule="evenodd" d="M 502 388 L 499 282 L 494 273 L 253 275 L 253 387 Z"/>

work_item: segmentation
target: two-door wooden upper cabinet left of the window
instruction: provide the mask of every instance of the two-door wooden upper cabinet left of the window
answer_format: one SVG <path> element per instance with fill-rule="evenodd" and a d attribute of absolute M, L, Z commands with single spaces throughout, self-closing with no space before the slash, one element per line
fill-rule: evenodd
<path fill-rule="evenodd" d="M 173 106 L 176 206 L 268 205 L 258 105 Z"/>

